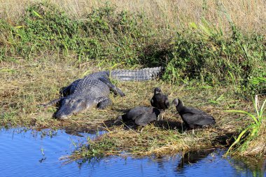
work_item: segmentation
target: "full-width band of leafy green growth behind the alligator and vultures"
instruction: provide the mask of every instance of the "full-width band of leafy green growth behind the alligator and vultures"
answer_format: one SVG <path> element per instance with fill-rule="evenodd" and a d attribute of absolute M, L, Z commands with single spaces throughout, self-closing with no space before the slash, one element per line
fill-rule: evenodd
<path fill-rule="evenodd" d="M 241 94 L 266 90 L 265 37 L 243 34 L 232 21 L 228 35 L 207 19 L 186 29 L 155 28 L 143 13 L 111 5 L 72 18 L 53 3 L 33 3 L 18 22 L 0 20 L 0 60 L 33 59 L 42 52 L 111 66 L 165 66 L 166 80 L 233 85 Z"/>

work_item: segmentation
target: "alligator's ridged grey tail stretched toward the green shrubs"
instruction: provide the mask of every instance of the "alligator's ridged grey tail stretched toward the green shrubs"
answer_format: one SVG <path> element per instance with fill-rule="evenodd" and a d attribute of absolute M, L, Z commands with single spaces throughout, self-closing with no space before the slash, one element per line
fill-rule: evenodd
<path fill-rule="evenodd" d="M 153 78 L 158 78 L 162 75 L 164 68 L 162 66 L 155 68 L 145 68 L 137 70 L 114 70 L 110 72 L 111 78 L 117 80 L 151 80 Z"/>

